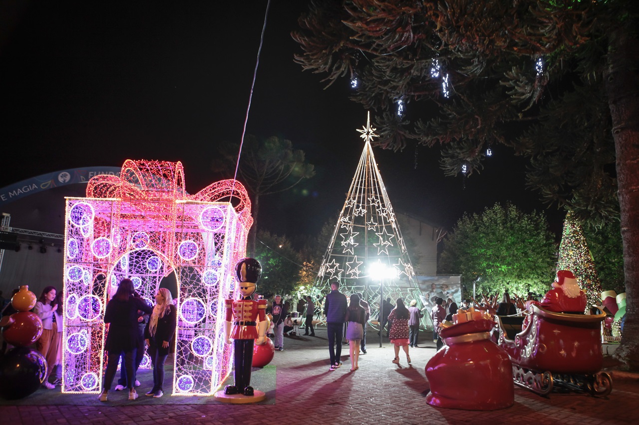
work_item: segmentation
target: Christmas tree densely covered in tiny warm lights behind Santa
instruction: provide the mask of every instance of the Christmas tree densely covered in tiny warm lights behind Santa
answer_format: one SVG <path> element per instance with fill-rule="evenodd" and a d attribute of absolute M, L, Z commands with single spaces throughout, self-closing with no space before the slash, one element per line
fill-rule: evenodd
<path fill-rule="evenodd" d="M 583 235 L 583 228 L 570 212 L 566 214 L 566 220 L 564 220 L 557 270 L 569 270 L 574 273 L 579 287 L 588 297 L 587 310 L 592 305 L 600 304 L 601 282 L 597 276 L 586 237 Z"/>

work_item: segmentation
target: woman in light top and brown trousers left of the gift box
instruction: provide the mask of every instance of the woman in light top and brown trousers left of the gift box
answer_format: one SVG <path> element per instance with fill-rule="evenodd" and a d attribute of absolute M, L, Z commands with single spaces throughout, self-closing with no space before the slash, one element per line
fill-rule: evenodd
<path fill-rule="evenodd" d="M 47 377 L 44 386 L 48 389 L 54 389 L 56 385 L 49 383 L 49 375 L 53 371 L 53 366 L 58 362 L 58 350 L 61 338 L 58 338 L 58 326 L 62 329 L 62 324 L 58 324 L 58 318 L 54 313 L 58 310 L 58 304 L 55 304 L 56 288 L 46 287 L 42 291 L 42 295 L 38 298 L 33 312 L 42 320 L 42 335 L 36 341 L 36 350 L 38 350 L 47 360 Z"/>

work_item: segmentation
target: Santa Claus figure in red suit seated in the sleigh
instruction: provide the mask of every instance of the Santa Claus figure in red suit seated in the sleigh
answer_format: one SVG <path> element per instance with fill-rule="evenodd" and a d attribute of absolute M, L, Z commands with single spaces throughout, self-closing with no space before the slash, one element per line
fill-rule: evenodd
<path fill-rule="evenodd" d="M 581 314 L 586 309 L 586 294 L 577 285 L 577 279 L 573 272 L 560 270 L 557 272 L 557 281 L 553 282 L 553 288 L 546 292 L 541 302 L 527 301 L 526 308 L 530 304 L 541 306 L 555 313 Z"/>

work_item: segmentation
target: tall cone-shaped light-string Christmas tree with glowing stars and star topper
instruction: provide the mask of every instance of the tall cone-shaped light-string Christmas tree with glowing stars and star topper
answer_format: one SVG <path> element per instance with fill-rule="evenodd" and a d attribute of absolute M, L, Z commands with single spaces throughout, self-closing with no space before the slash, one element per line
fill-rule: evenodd
<path fill-rule="evenodd" d="M 378 315 L 381 285 L 384 299 L 402 297 L 406 305 L 415 299 L 423 307 L 413 265 L 373 155 L 375 130 L 369 112 L 366 127 L 357 130 L 362 133 L 364 151 L 316 281 L 323 292 L 330 291 L 332 279 L 341 281 L 340 291 L 347 296 L 362 292 L 371 306 L 371 319 Z M 382 274 L 387 276 L 383 280 Z"/>

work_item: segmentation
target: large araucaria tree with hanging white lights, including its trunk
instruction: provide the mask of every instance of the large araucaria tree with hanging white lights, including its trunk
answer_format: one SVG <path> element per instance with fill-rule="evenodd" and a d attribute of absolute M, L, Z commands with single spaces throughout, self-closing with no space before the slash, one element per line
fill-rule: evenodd
<path fill-rule="evenodd" d="M 296 61 L 329 84 L 351 78 L 383 147 L 445 144 L 445 172 L 470 175 L 503 144 L 578 220 L 615 220 L 618 202 L 615 355 L 639 369 L 639 1 L 312 1 L 300 27 Z"/>

